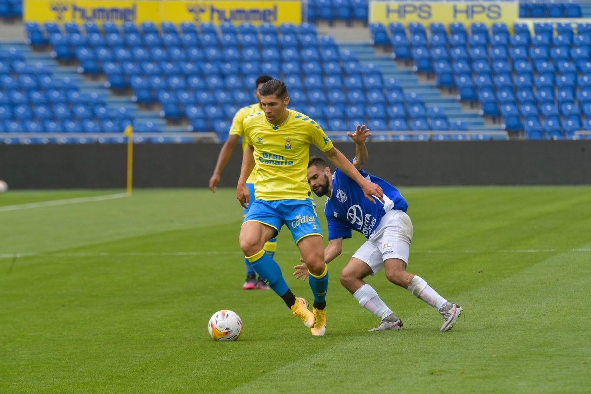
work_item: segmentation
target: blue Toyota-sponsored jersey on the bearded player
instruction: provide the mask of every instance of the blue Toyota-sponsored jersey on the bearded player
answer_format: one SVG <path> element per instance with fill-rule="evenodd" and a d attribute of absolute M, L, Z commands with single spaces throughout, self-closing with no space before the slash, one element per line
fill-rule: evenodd
<path fill-rule="evenodd" d="M 329 240 L 350 238 L 351 230 L 369 238 L 387 211 L 395 209 L 406 212 L 408 209 L 407 202 L 397 188 L 363 170 L 359 172 L 384 190 L 384 204 L 377 198 L 374 198 L 376 204 L 372 204 L 354 180 L 336 170 L 333 174 L 332 196 L 324 204 Z"/>

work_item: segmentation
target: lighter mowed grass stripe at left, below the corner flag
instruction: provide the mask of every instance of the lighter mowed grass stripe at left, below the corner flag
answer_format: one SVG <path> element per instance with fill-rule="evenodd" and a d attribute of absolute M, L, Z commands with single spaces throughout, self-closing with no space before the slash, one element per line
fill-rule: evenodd
<path fill-rule="evenodd" d="M 24 193 L 24 192 L 22 192 Z M 241 222 L 235 192 L 137 190 L 129 198 L 0 213 L 0 252 L 48 252 L 190 227 Z M 233 202 L 233 201 L 232 201 Z M 223 208 L 222 208 L 223 207 Z"/>

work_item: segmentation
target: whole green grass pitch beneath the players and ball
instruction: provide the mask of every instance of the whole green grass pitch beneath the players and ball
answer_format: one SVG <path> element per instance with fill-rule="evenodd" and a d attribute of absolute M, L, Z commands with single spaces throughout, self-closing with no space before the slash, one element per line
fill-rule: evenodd
<path fill-rule="evenodd" d="M 329 265 L 326 336 L 311 337 L 272 291 L 242 290 L 233 189 L 0 195 L 0 392 L 589 392 L 591 188 L 401 190 L 408 270 L 465 308 L 449 333 L 383 273 L 368 282 L 404 330 L 367 332 L 377 318 L 339 283 L 354 236 Z M 278 245 L 310 299 L 285 228 Z M 241 315 L 238 341 L 207 334 L 220 309 Z"/>

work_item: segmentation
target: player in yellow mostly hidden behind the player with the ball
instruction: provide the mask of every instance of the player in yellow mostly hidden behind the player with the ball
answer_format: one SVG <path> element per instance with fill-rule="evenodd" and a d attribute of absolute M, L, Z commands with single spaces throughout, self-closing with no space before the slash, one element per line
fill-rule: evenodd
<path fill-rule="evenodd" d="M 236 115 L 234 115 L 232 126 L 230 126 L 230 131 L 228 132 L 228 139 L 226 139 L 226 142 L 223 144 L 222 149 L 220 149 L 219 155 L 217 155 L 216 168 L 215 170 L 213 170 L 212 177 L 209 180 L 209 190 L 213 191 L 213 193 L 216 192 L 217 185 L 220 183 L 220 175 L 222 174 L 224 167 L 226 167 L 226 164 L 228 164 L 228 161 L 232 156 L 232 153 L 234 152 L 234 148 L 236 147 L 236 143 L 241 138 L 242 133 L 244 132 L 244 128 L 242 125 L 244 118 L 246 118 L 246 116 L 248 115 L 252 115 L 253 113 L 259 112 L 261 110 L 261 105 L 258 103 L 259 89 L 261 89 L 265 82 L 270 81 L 272 79 L 273 78 L 269 77 L 268 75 L 259 76 L 255 81 L 256 104 L 247 105 L 239 109 L 238 112 L 236 112 Z M 244 151 L 245 148 L 246 139 L 242 138 L 242 151 Z M 248 177 L 248 180 L 246 180 L 246 187 L 248 187 L 248 190 L 251 192 L 253 196 L 255 194 L 255 177 L 256 171 L 252 171 L 251 176 Z M 244 215 L 246 215 L 247 211 L 248 208 L 244 210 Z M 269 240 L 269 242 L 265 243 L 265 252 L 267 252 L 269 256 L 274 257 L 276 250 L 277 238 L 271 239 Z M 244 285 L 242 285 L 242 288 L 245 290 L 255 288 L 268 290 L 269 286 L 261 279 L 260 276 L 258 279 L 256 279 L 255 270 L 252 268 L 252 265 L 248 261 L 248 259 L 246 259 L 246 256 L 244 258 L 244 263 L 246 265 L 246 281 L 244 282 Z"/>

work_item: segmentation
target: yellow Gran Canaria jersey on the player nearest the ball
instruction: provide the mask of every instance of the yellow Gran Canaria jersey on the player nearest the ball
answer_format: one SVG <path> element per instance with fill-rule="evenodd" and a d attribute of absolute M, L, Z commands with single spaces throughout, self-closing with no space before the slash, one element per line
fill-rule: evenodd
<path fill-rule="evenodd" d="M 255 198 L 306 200 L 310 185 L 306 175 L 310 145 L 323 151 L 333 147 L 322 128 L 302 113 L 288 110 L 287 120 L 275 126 L 260 111 L 244 120 L 244 136 L 254 147 Z"/>

